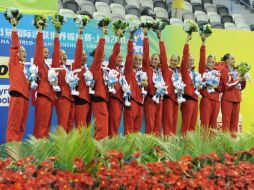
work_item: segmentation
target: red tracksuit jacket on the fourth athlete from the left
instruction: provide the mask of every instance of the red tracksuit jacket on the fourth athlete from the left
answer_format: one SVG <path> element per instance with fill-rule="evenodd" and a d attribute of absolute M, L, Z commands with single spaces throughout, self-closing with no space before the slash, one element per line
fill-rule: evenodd
<path fill-rule="evenodd" d="M 76 51 L 75 51 L 75 61 L 72 66 L 72 70 L 82 69 L 78 73 L 78 77 L 79 77 L 79 82 L 78 82 L 78 86 L 77 86 L 77 90 L 79 91 L 78 97 L 87 101 L 87 102 L 91 102 L 89 90 L 88 90 L 88 87 L 86 86 L 86 81 L 85 81 L 85 77 L 84 77 L 84 73 L 86 72 L 86 70 L 84 68 L 82 68 L 82 66 L 83 66 L 82 65 L 83 64 L 82 52 L 83 52 L 82 40 L 78 39 L 77 44 L 76 44 Z"/>

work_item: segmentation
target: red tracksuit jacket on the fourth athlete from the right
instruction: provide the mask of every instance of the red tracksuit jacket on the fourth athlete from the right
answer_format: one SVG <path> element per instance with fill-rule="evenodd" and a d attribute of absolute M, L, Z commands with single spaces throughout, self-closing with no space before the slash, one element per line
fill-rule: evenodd
<path fill-rule="evenodd" d="M 167 54 L 166 54 L 166 48 L 164 45 L 164 42 L 160 42 L 160 59 L 161 59 L 161 70 L 162 75 L 164 78 L 164 81 L 166 85 L 168 86 L 168 97 L 170 97 L 174 102 L 177 102 L 177 95 L 175 93 L 175 87 L 173 85 L 172 81 L 172 75 L 173 71 L 168 68 L 168 60 L 167 60 Z"/>

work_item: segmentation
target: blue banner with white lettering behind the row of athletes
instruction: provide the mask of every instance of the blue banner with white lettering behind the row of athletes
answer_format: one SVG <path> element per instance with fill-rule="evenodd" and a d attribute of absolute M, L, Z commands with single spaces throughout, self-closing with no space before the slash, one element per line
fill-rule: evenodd
<path fill-rule="evenodd" d="M 37 29 L 33 26 L 33 15 L 23 15 L 20 23 L 17 26 L 19 34 L 20 44 L 23 45 L 27 51 L 27 61 L 30 62 L 34 55 L 35 38 Z M 9 79 L 8 79 L 8 60 L 11 45 L 11 24 L 4 19 L 3 13 L 0 13 L 0 144 L 5 142 L 5 130 L 8 121 L 8 105 L 9 105 Z M 50 20 L 50 18 L 49 18 Z M 67 53 L 68 59 L 73 59 L 76 39 L 77 39 L 77 27 L 73 19 L 69 18 L 68 21 L 62 26 L 60 34 L 61 48 Z M 48 22 L 47 28 L 44 33 L 44 46 L 50 51 L 50 57 L 52 56 L 53 40 L 54 40 L 54 27 Z M 134 48 L 136 53 L 143 51 L 143 36 L 142 31 L 137 31 L 135 34 Z M 91 22 L 85 27 L 83 34 L 83 48 L 89 54 L 94 48 L 97 47 L 97 43 L 101 36 L 101 31 L 97 27 L 96 20 Z M 129 34 L 125 34 L 121 39 L 121 53 L 125 57 L 127 51 L 127 42 Z M 113 46 L 116 42 L 116 36 L 112 32 L 112 25 L 109 27 L 109 34 L 106 36 L 105 54 L 106 59 L 109 58 Z M 92 58 L 88 56 L 88 65 L 92 62 Z M 34 126 L 34 107 L 30 104 L 29 116 L 27 119 L 25 138 L 33 133 Z M 57 118 L 55 108 L 52 117 L 52 126 L 57 126 Z M 123 131 L 121 124 L 120 131 Z"/>

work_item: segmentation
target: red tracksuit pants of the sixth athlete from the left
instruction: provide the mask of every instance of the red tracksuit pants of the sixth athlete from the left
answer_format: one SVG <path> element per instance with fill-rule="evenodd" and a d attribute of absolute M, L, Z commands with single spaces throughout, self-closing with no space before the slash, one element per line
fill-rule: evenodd
<path fill-rule="evenodd" d="M 108 102 L 109 136 L 117 136 L 121 123 L 123 104 L 117 98 L 110 97 Z"/>

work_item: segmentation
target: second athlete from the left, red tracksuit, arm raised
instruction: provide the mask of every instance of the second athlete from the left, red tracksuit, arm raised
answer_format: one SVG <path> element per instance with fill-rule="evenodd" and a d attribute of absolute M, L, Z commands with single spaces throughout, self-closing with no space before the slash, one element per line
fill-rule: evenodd
<path fill-rule="evenodd" d="M 41 27 L 36 37 L 34 64 L 38 66 L 40 77 L 35 101 L 34 136 L 43 138 L 48 136 L 50 130 L 53 102 L 56 95 L 48 81 L 50 66 L 46 65 L 43 56 L 43 33 Z"/>

